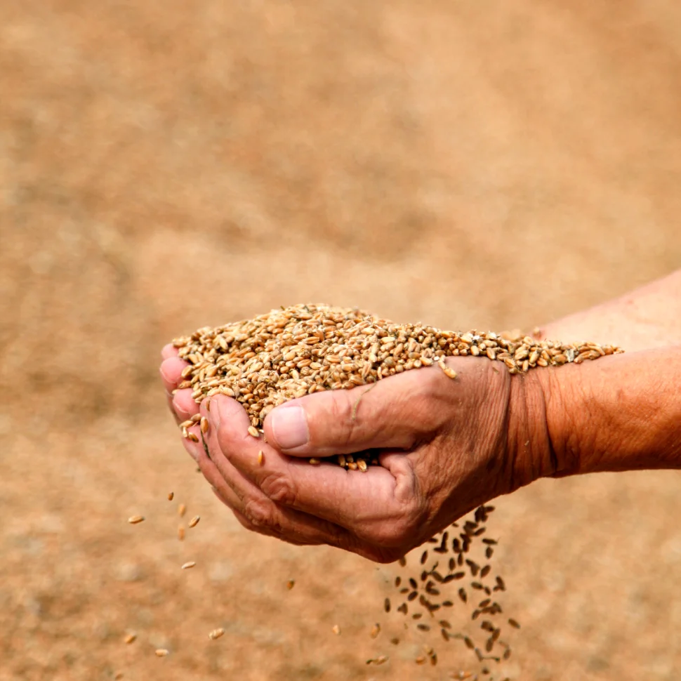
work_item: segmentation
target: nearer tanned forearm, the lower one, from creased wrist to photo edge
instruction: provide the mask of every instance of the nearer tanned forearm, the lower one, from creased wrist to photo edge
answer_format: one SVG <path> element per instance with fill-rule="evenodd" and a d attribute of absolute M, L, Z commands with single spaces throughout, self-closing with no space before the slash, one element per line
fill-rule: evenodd
<path fill-rule="evenodd" d="M 557 475 L 681 468 L 680 345 L 540 373 Z"/>

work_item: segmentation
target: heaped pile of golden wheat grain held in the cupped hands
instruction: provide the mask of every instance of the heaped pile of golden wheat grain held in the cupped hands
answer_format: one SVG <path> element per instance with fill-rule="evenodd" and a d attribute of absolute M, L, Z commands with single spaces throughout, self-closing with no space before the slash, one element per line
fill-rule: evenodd
<path fill-rule="evenodd" d="M 510 373 L 524 373 L 538 366 L 579 364 L 622 352 L 597 343 L 394 324 L 357 308 L 329 305 L 293 305 L 215 329 L 205 326 L 191 336 L 176 338 L 173 345 L 188 362 L 178 390 L 190 388 L 199 403 L 213 395 L 237 399 L 246 408 L 256 437 L 265 416 L 295 397 L 355 388 L 433 364 L 456 378 L 444 364 L 445 357 L 486 357 L 503 362 Z M 187 430 L 192 425 L 187 421 L 180 427 L 185 437 L 194 439 L 197 436 Z M 340 463 L 365 470 L 352 456 Z"/>

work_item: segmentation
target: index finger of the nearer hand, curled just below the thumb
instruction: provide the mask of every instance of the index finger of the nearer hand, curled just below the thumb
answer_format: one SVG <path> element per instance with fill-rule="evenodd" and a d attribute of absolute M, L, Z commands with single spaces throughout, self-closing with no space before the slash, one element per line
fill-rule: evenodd
<path fill-rule="evenodd" d="M 210 418 L 216 428 L 220 454 L 278 505 L 341 526 L 359 540 L 371 541 L 382 522 L 402 513 L 402 505 L 414 498 L 409 470 L 394 473 L 381 466 L 366 472 L 339 465 L 289 458 L 248 434 L 249 418 L 232 399 L 211 399 Z M 263 462 L 258 463 L 258 451 Z M 402 455 L 404 456 L 404 455 Z"/>

